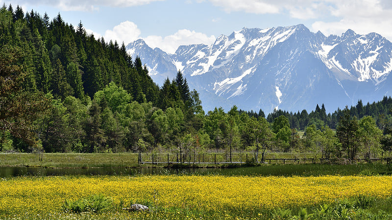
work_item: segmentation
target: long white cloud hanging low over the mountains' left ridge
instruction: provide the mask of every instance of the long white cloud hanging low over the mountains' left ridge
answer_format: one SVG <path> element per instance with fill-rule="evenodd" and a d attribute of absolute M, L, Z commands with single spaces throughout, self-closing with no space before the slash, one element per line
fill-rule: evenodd
<path fill-rule="evenodd" d="M 203 33 L 187 29 L 178 30 L 173 35 L 162 38 L 161 36 L 148 36 L 143 39 L 151 48 L 158 47 L 165 52 L 174 53 L 180 45 L 207 44 L 215 42 L 214 35 L 207 36 Z"/>

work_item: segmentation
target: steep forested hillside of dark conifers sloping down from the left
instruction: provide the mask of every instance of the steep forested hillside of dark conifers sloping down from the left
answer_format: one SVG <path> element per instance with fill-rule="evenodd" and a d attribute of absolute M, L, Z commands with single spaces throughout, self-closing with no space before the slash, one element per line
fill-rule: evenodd
<path fill-rule="evenodd" d="M 47 14 L 41 16 L 33 10 L 24 13 L 19 6 L 14 10 L 12 5 L 3 5 L 0 44 L 1 67 L 4 67 L 0 119 L 2 130 L 7 131 L 1 134 L 3 150 L 128 150 L 131 125 L 138 126 L 140 132 L 133 136 L 148 136 L 145 139 L 150 143 L 154 142 L 151 138 L 158 138 L 156 132 L 146 134 L 146 114 L 158 117 L 163 110 L 173 110 L 173 117 L 180 114 L 191 121 L 194 112 L 203 113 L 197 92 L 189 91 L 181 74 L 159 88 L 148 76 L 140 58 L 133 60 L 125 52 L 123 43 L 96 40 L 94 35 L 86 33 L 82 22 L 74 27 L 63 21 L 60 14 L 50 20 Z M 14 109 L 18 117 L 12 117 L 11 108 L 5 104 L 16 105 L 18 99 L 14 97 L 15 89 L 3 92 L 3 85 L 10 82 L 5 75 L 7 66 L 18 66 L 19 71 L 12 73 L 11 78 L 15 86 L 21 87 L 19 93 L 28 94 L 25 99 L 29 100 L 20 100 L 20 106 L 31 104 L 37 96 L 47 102 L 51 100 L 50 108 L 41 103 L 44 105 L 40 107 L 41 115 L 35 114 L 34 118 L 28 117 L 31 108 Z M 155 124 L 151 126 L 158 126 Z M 21 129 L 33 133 L 20 134 Z M 131 141 L 132 146 L 134 142 Z"/>

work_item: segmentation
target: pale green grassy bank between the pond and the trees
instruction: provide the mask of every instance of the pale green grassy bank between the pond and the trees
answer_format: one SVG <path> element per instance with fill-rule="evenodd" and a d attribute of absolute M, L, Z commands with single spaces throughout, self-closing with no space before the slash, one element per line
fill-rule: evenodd
<path fill-rule="evenodd" d="M 250 160 L 252 154 L 247 153 Z M 137 153 L 44 153 L 44 154 L 31 154 L 31 153 L 0 153 L 1 166 L 19 166 L 19 167 L 48 167 L 48 168 L 138 168 L 138 167 L 165 167 L 167 166 L 167 153 L 161 154 L 142 154 L 143 162 L 152 162 L 154 155 L 154 162 L 161 162 L 159 164 L 139 164 Z M 179 157 L 179 155 L 178 155 Z M 241 157 L 241 158 L 240 158 Z M 289 154 L 289 153 L 271 153 L 269 158 L 313 158 L 312 154 Z M 200 159 L 200 164 L 198 163 Z M 169 160 L 177 161 L 176 154 L 169 154 Z M 233 161 L 246 161 L 246 153 L 233 154 Z M 225 167 L 221 162 L 227 162 L 224 153 L 207 153 L 196 158 L 185 159 L 185 162 L 190 162 L 194 167 Z M 203 164 L 208 162 L 210 164 Z M 217 164 L 214 164 L 217 162 Z M 279 162 L 280 163 L 280 162 Z M 286 161 L 286 163 L 297 163 Z M 303 161 L 301 161 L 303 163 Z M 307 161 L 306 163 L 309 163 Z"/>

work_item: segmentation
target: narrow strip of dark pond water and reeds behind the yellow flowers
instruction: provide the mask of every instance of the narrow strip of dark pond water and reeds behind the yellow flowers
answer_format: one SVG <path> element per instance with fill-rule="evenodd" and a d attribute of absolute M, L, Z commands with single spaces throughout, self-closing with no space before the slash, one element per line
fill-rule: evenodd
<path fill-rule="evenodd" d="M 364 171 L 366 171 L 364 173 Z M 245 175 L 245 176 L 320 176 L 391 175 L 387 164 L 270 164 L 238 168 L 44 168 L 0 167 L 0 178 L 13 176 L 137 176 L 137 175 Z"/>

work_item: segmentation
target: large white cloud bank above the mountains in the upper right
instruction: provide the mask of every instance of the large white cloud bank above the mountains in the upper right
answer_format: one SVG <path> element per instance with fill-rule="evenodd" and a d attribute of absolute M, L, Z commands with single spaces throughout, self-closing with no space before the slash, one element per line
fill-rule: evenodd
<path fill-rule="evenodd" d="M 391 0 L 209 0 L 230 13 L 288 14 L 312 20 L 312 31 L 340 35 L 347 29 L 392 39 Z"/>

